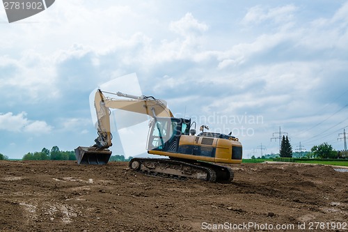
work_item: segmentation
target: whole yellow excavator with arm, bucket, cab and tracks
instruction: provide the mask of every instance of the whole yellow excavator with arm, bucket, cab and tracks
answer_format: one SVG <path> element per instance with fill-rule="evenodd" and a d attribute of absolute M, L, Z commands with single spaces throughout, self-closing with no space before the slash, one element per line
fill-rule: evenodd
<path fill-rule="evenodd" d="M 106 97 L 104 93 L 115 94 L 118 98 Z M 124 99 L 125 98 L 125 99 Z M 216 181 L 231 181 L 234 172 L 230 167 L 218 165 L 240 164 L 242 144 L 230 134 L 204 132 L 200 134 L 191 128 L 191 119 L 175 118 L 166 103 L 152 96 L 135 96 L 125 93 L 101 91 L 95 93 L 97 113 L 97 134 L 95 145 L 79 146 L 75 149 L 78 164 L 107 164 L 112 146 L 110 129 L 110 109 L 121 109 L 145 114 L 152 118 L 149 123 L 147 150 L 152 155 L 168 158 L 138 158 L 129 162 L 129 168 L 152 176 L 167 178 L 196 178 Z M 136 141 L 134 141 L 136 142 Z"/>

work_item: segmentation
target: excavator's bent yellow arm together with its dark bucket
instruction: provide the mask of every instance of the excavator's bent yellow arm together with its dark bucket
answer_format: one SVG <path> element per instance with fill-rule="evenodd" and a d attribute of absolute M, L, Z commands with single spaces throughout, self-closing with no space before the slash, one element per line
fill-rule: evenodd
<path fill-rule="evenodd" d="M 173 117 L 173 114 L 166 104 L 161 100 L 147 96 L 135 96 L 125 93 L 109 93 L 118 97 L 127 98 L 115 99 L 106 98 L 100 89 L 95 93 L 94 106 L 97 114 L 97 134 L 95 144 L 90 147 L 79 146 L 75 149 L 78 164 L 106 164 L 109 162 L 112 146 L 112 134 L 110 129 L 110 109 L 121 109 L 139 114 L 147 114 L 152 118 Z"/>

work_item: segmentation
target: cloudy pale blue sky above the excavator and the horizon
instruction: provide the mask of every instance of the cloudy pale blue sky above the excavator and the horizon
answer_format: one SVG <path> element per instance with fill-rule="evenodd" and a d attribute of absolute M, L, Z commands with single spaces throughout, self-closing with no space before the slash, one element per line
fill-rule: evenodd
<path fill-rule="evenodd" d="M 261 144 L 277 153 L 279 127 L 294 150 L 344 148 L 348 1 L 57 0 L 11 24 L 1 8 L 0 22 L 0 153 L 10 158 L 93 145 L 90 93 L 134 72 L 176 116 L 232 131 L 244 157 Z"/>

